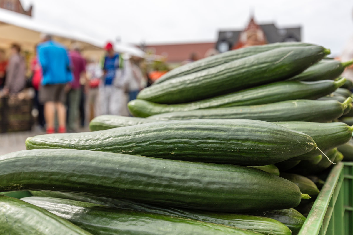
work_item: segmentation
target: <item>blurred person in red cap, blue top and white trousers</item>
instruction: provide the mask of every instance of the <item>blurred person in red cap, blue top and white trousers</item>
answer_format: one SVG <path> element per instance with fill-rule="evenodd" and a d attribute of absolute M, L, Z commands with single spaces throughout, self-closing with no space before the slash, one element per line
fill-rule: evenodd
<path fill-rule="evenodd" d="M 102 84 L 98 91 L 98 115 L 112 114 L 128 116 L 127 79 L 124 76 L 124 60 L 108 42 L 103 60 Z"/>

